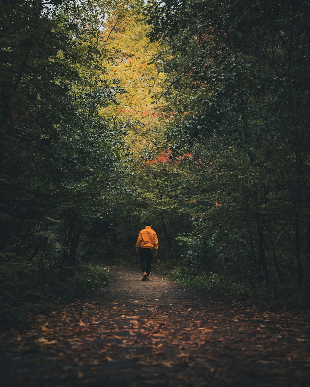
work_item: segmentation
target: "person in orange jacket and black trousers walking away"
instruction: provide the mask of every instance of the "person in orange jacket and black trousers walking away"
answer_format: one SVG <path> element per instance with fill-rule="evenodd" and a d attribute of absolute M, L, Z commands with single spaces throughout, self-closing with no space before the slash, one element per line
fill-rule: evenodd
<path fill-rule="evenodd" d="M 156 257 L 158 250 L 158 239 L 152 223 L 145 222 L 145 228 L 140 231 L 136 242 L 136 254 L 139 255 L 140 249 L 140 265 L 143 272 L 142 281 L 150 281 L 150 273 L 153 262 L 153 250 Z"/>

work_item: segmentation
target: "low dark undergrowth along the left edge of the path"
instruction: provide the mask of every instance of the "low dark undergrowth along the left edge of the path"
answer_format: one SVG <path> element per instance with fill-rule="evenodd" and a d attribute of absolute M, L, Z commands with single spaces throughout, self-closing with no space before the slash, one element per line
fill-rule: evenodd
<path fill-rule="evenodd" d="M 108 286 L 108 271 L 90 262 L 80 262 L 75 274 L 67 266 L 48 268 L 43 287 L 37 268 L 17 255 L 1 253 L 0 267 L 0 329 L 20 328 L 27 315 L 45 313 L 52 303 Z"/>

